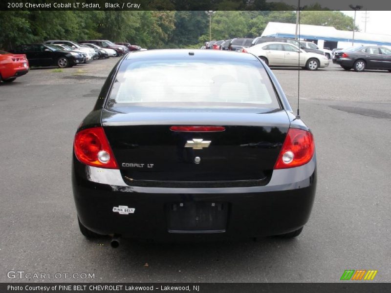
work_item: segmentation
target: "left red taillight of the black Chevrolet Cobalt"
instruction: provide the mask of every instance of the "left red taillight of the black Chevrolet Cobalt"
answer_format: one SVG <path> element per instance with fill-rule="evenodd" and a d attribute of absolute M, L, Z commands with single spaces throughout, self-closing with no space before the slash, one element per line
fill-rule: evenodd
<path fill-rule="evenodd" d="M 76 158 L 83 164 L 118 169 L 114 154 L 102 127 L 88 128 L 76 133 L 73 148 Z"/>

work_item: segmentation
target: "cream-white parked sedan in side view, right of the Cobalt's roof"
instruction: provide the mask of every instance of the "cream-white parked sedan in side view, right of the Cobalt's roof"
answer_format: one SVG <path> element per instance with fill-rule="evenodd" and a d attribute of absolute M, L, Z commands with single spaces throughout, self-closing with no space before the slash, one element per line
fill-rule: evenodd
<path fill-rule="evenodd" d="M 308 70 L 317 70 L 318 68 L 328 66 L 328 58 L 326 56 L 305 52 L 287 42 L 260 43 L 245 49 L 245 51 L 258 56 L 269 66 L 301 66 Z"/>

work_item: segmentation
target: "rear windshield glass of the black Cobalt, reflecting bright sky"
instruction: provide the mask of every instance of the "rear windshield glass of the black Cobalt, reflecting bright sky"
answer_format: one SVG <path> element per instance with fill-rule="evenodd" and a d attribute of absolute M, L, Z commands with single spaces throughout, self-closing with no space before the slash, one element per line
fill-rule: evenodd
<path fill-rule="evenodd" d="M 258 61 L 128 63 L 120 69 L 109 100 L 109 106 L 128 103 L 222 106 L 222 103 L 235 103 L 280 108 L 270 79 Z"/>

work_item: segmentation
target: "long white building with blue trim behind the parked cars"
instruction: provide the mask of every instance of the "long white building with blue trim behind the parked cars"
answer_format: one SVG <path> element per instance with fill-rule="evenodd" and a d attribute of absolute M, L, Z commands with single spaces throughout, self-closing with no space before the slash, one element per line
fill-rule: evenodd
<path fill-rule="evenodd" d="M 261 37 L 295 38 L 295 32 L 294 23 L 269 22 Z M 300 25 L 300 40 L 315 42 L 319 48 L 347 48 L 352 46 L 352 38 L 352 31 L 337 30 L 333 26 Z M 354 45 L 368 44 L 391 46 L 391 35 L 354 33 Z"/>

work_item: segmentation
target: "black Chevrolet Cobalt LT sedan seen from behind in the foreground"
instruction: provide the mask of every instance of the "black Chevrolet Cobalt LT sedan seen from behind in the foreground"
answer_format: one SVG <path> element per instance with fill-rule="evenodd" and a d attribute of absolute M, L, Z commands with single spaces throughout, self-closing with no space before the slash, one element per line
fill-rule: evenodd
<path fill-rule="evenodd" d="M 300 234 L 316 189 L 311 131 L 251 54 L 130 53 L 74 139 L 81 232 L 177 241 Z"/>

